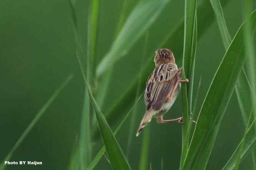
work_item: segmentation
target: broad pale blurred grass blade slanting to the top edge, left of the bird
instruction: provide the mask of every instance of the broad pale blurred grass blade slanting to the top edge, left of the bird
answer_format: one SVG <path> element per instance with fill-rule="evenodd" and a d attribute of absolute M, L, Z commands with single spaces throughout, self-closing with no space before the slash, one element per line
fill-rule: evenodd
<path fill-rule="evenodd" d="M 98 65 L 96 75 L 99 77 L 118 59 L 126 54 L 135 42 L 156 20 L 170 0 L 141 1 L 128 16 L 123 28 L 112 44 L 110 51 Z"/>

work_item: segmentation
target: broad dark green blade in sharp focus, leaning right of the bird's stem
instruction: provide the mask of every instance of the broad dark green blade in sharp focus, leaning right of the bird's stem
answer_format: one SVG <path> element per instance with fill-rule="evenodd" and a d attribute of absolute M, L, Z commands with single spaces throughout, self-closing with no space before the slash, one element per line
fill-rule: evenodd
<path fill-rule="evenodd" d="M 254 11 L 250 17 L 255 26 L 256 12 Z M 185 160 L 185 170 L 205 169 L 207 165 L 221 120 L 245 61 L 243 27 L 244 24 L 226 51 L 204 99 Z"/>

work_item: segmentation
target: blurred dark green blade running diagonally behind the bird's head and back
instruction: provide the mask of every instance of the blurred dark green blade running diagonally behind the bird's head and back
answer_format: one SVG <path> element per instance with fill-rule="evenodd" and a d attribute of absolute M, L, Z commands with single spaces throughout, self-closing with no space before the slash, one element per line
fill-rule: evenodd
<path fill-rule="evenodd" d="M 223 0 L 223 7 L 225 7 L 230 0 Z M 197 21 L 198 21 L 198 41 L 203 36 L 203 34 L 206 32 L 206 29 L 211 25 L 211 23 L 214 20 L 214 13 L 212 12 L 211 3 L 209 1 L 203 1 L 201 4 L 199 4 L 197 8 Z M 159 43 L 156 47 L 150 47 L 148 49 L 148 54 L 154 54 L 155 49 L 159 48 L 170 48 L 175 53 L 176 60 L 181 60 L 179 56 L 182 56 L 182 42 L 183 39 L 183 27 L 184 27 L 184 21 L 181 21 L 177 24 L 175 29 L 170 30 L 170 32 L 166 35 L 166 39 L 163 39 L 162 42 Z M 175 39 L 175 41 L 173 41 Z M 177 45 L 180 44 L 180 45 Z M 148 78 L 148 75 L 151 73 L 153 68 L 155 67 L 153 62 L 153 57 L 150 58 L 145 62 L 145 66 L 143 67 L 143 72 L 141 76 L 141 86 L 145 85 L 145 82 Z M 122 114 L 122 110 L 127 108 L 127 106 L 133 101 L 132 99 L 136 96 L 136 87 L 138 86 L 139 82 L 139 75 L 135 78 L 131 84 L 127 85 L 129 87 L 126 92 L 123 93 L 123 95 L 120 96 L 120 98 L 116 99 L 114 101 L 113 105 L 109 106 L 109 110 L 106 111 L 106 119 L 109 124 L 113 124 L 116 121 L 118 121 Z M 140 93 L 142 93 L 143 90 L 141 89 Z M 111 119 L 115 117 L 115 119 Z M 96 121 L 93 121 L 93 127 L 95 127 Z M 99 137 L 98 130 L 94 130 L 93 138 Z"/>

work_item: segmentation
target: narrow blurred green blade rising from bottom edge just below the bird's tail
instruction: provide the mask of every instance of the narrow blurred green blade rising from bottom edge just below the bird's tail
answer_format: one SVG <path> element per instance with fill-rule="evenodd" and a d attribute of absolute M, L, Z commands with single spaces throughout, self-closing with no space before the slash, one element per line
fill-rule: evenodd
<path fill-rule="evenodd" d="M 145 129 L 145 132 L 143 133 L 139 170 L 148 169 L 149 148 L 150 148 L 150 124 L 148 125 L 148 127 Z"/>

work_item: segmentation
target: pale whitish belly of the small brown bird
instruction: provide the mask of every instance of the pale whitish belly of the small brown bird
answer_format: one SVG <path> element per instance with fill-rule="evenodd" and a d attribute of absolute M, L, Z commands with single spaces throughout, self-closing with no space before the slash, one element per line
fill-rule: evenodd
<path fill-rule="evenodd" d="M 172 99 L 169 102 L 164 103 L 159 111 L 154 111 L 153 117 L 156 118 L 159 116 L 163 116 L 168 110 L 170 110 L 171 106 L 173 106 L 173 103 L 175 102 L 175 100 L 177 99 L 177 97 L 180 93 L 180 88 L 181 88 L 181 84 L 179 84 L 178 88 L 173 93 Z"/>

